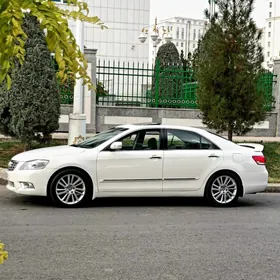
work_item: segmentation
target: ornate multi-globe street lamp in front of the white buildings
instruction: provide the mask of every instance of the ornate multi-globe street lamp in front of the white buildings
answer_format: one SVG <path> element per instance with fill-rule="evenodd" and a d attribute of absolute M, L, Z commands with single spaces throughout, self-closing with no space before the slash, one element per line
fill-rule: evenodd
<path fill-rule="evenodd" d="M 162 42 L 162 40 L 165 40 L 167 43 L 171 42 L 173 37 L 172 37 L 172 27 L 169 28 L 169 26 L 167 28 L 165 28 L 164 26 L 159 26 L 158 22 L 157 22 L 157 18 L 155 18 L 155 23 L 153 25 L 144 27 L 142 29 L 142 33 L 140 34 L 140 36 L 138 37 L 141 43 L 145 43 L 148 35 L 149 35 L 149 29 L 152 28 L 152 32 L 151 32 L 151 40 L 153 42 L 153 47 L 155 49 L 154 53 L 156 56 L 157 53 L 157 47 L 158 45 Z M 160 34 L 161 33 L 161 34 Z"/>

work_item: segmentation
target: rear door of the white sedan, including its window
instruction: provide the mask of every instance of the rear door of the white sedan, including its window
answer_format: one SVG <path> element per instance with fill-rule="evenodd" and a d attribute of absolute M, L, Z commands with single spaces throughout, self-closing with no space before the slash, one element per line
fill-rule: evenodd
<path fill-rule="evenodd" d="M 167 129 L 163 191 L 198 190 L 205 178 L 223 162 L 223 152 L 199 134 Z"/>

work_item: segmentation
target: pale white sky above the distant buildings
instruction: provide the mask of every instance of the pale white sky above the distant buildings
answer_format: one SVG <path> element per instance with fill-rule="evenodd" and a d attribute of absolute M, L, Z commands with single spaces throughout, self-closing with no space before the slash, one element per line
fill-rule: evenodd
<path fill-rule="evenodd" d="M 204 19 L 203 11 L 208 8 L 208 0 L 150 0 L 151 23 L 157 16 L 159 20 L 181 16 Z M 253 17 L 259 28 L 264 27 L 267 17 L 267 0 L 255 0 Z"/>

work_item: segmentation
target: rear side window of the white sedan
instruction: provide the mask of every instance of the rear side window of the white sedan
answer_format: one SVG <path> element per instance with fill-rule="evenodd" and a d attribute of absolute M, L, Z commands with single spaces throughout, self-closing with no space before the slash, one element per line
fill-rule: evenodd
<path fill-rule="evenodd" d="M 167 130 L 168 150 L 213 150 L 216 145 L 199 134 L 186 130 Z"/>

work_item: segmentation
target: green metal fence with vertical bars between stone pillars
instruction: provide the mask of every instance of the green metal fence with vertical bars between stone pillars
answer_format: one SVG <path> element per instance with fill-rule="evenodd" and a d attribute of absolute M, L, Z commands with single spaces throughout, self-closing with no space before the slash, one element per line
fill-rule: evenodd
<path fill-rule="evenodd" d="M 160 65 L 98 61 L 97 64 L 97 105 L 130 106 L 154 108 L 196 109 L 197 87 L 191 70 L 182 65 Z M 265 108 L 274 108 L 271 72 L 261 75 L 258 92 L 264 95 Z M 61 86 L 63 104 L 73 102 L 71 86 Z"/>

